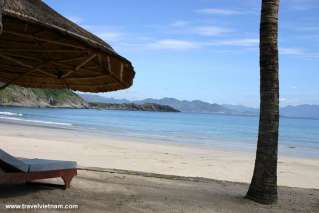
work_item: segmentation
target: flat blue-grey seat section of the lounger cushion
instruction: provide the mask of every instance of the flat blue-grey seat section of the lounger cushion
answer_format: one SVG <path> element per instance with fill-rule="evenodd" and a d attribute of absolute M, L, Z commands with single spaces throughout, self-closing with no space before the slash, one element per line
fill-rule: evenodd
<path fill-rule="evenodd" d="M 75 169 L 77 163 L 73 161 L 57 161 L 43 159 L 23 159 L 22 162 L 29 166 L 29 172 L 44 172 L 63 169 Z"/>

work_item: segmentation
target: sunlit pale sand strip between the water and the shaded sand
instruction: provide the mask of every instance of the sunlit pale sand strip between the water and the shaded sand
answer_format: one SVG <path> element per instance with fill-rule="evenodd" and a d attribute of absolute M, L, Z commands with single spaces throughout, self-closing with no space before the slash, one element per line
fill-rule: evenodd
<path fill-rule="evenodd" d="M 77 161 L 101 167 L 250 182 L 254 153 L 154 144 L 63 129 L 0 124 L 0 147 L 26 158 Z M 319 158 L 279 157 L 279 185 L 319 189 Z"/>

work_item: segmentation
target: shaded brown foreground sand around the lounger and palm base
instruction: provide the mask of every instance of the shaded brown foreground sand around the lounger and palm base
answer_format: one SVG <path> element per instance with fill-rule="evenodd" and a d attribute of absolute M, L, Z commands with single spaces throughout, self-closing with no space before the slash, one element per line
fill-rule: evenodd
<path fill-rule="evenodd" d="M 40 184 L 0 187 L 0 211 L 9 204 L 77 205 L 80 213 L 290 213 L 319 210 L 319 191 L 279 187 L 280 200 L 260 205 L 244 199 L 248 185 L 200 178 L 152 176 L 125 171 L 79 171 L 69 190 Z"/>

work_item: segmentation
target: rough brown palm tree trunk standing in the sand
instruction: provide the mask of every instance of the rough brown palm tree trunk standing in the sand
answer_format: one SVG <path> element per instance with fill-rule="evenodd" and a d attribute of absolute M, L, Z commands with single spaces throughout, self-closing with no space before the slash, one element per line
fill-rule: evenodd
<path fill-rule="evenodd" d="M 279 0 L 262 0 L 259 134 L 254 174 L 246 197 L 264 204 L 278 198 L 278 10 Z"/>

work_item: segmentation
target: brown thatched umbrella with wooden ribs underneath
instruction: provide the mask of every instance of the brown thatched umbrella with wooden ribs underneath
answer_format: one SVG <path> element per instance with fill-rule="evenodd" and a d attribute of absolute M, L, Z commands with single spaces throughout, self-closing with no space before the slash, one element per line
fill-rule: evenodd
<path fill-rule="evenodd" d="M 110 45 L 41 0 L 0 0 L 0 81 L 23 87 L 108 92 L 134 68 Z"/>

